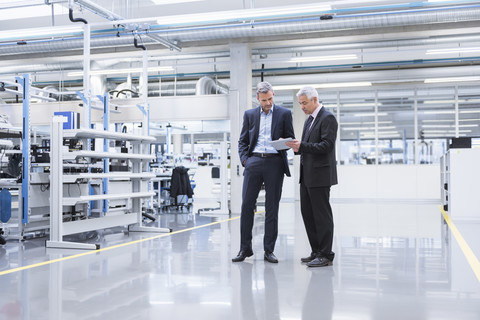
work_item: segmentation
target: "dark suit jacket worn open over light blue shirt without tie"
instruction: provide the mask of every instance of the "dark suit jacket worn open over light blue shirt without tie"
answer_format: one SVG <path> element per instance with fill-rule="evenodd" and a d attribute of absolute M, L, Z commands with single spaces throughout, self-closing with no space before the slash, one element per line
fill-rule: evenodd
<path fill-rule="evenodd" d="M 252 156 L 255 145 L 258 140 L 258 133 L 260 127 L 260 108 L 253 108 L 245 111 L 243 115 L 242 132 L 238 140 L 238 154 L 242 163 Z M 293 131 L 292 113 L 290 110 L 274 105 L 272 114 L 272 140 L 280 138 L 295 138 Z M 287 151 L 278 151 L 283 158 L 285 166 L 285 174 L 290 176 L 290 169 L 288 168 Z"/>

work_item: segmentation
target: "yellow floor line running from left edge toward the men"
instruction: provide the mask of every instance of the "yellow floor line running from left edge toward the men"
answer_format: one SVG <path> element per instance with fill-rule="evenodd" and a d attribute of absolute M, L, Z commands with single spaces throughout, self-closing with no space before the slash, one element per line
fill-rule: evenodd
<path fill-rule="evenodd" d="M 256 213 L 259 213 L 259 212 L 256 212 Z M 237 220 L 239 218 L 240 218 L 240 216 L 235 217 L 235 218 L 229 218 L 229 219 L 225 219 L 225 220 L 215 221 L 215 222 L 203 224 L 201 226 L 196 226 L 196 227 L 192 227 L 192 228 L 173 231 L 173 232 L 170 232 L 170 233 L 162 233 L 160 235 L 156 235 L 156 236 L 149 237 L 149 238 L 144 238 L 144 239 L 140 239 L 140 240 L 134 240 L 134 241 L 130 241 L 130 242 L 117 244 L 117 245 L 114 245 L 114 246 L 111 246 L 111 247 L 100 248 L 98 250 L 86 251 L 86 252 L 82 252 L 82 253 L 79 253 L 79 254 L 74 254 L 74 255 L 71 255 L 71 256 L 68 256 L 68 257 L 48 260 L 48 261 L 35 263 L 35 264 L 30 264 L 30 265 L 27 265 L 27 266 L 18 267 L 18 268 L 14 268 L 14 269 L 8 269 L 8 270 L 0 271 L 0 276 L 10 274 L 10 273 L 14 273 L 14 272 L 18 272 L 18 271 L 22 271 L 22 270 L 33 269 L 33 268 L 49 265 L 49 264 L 60 262 L 60 261 L 75 259 L 75 258 L 83 257 L 83 256 L 86 256 L 86 255 L 89 255 L 89 254 L 96 254 L 96 253 L 102 252 L 102 251 L 117 249 L 117 248 L 120 248 L 120 247 L 125 247 L 125 246 L 129 246 L 129 245 L 132 245 L 132 244 L 140 243 L 140 242 L 145 242 L 145 241 L 150 241 L 150 240 L 153 240 L 153 239 L 163 238 L 163 237 L 171 236 L 171 235 L 174 235 L 174 234 L 177 234 L 177 233 L 192 231 L 192 230 L 195 230 L 195 229 L 200 229 L 200 228 L 212 226 L 212 225 L 223 223 L 223 222 Z"/>

